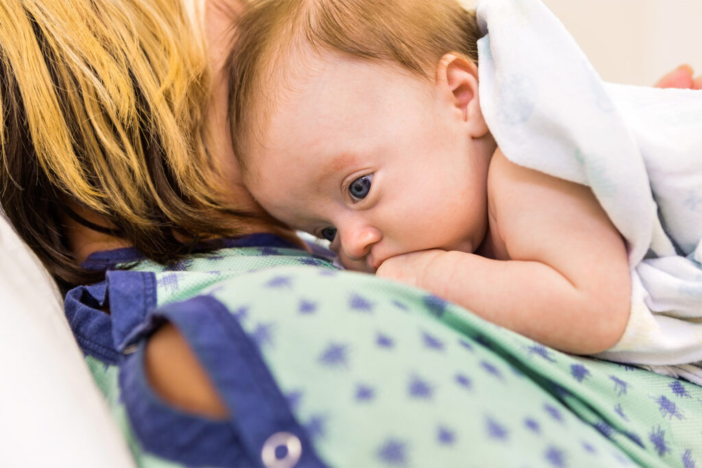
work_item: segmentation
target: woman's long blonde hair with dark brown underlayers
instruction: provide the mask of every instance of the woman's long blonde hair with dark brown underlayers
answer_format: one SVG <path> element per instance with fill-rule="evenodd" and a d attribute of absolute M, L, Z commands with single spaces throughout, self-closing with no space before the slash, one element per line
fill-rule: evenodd
<path fill-rule="evenodd" d="M 67 202 L 160 262 L 187 253 L 178 238 L 234 234 L 212 215 L 207 57 L 179 0 L 0 1 L 0 200 L 62 286 L 95 279 L 67 249 Z"/>

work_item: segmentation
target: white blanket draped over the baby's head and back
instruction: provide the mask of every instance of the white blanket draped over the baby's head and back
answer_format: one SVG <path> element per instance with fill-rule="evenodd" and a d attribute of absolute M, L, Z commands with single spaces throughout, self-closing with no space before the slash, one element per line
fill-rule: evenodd
<path fill-rule="evenodd" d="M 628 242 L 630 320 L 600 356 L 702 361 L 702 91 L 605 83 L 541 1 L 481 0 L 477 15 L 479 98 L 505 156 L 590 186 Z"/>

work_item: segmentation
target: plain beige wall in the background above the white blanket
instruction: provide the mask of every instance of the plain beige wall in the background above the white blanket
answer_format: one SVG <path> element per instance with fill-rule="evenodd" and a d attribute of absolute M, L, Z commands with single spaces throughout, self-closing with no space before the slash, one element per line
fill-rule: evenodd
<path fill-rule="evenodd" d="M 682 63 L 702 74 L 702 0 L 543 1 L 607 81 L 651 85 Z"/>

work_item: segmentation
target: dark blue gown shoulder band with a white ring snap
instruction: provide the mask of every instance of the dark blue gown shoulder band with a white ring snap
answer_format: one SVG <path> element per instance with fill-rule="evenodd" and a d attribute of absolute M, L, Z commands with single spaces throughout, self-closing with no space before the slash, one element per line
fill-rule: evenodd
<path fill-rule="evenodd" d="M 221 302 L 198 296 L 160 307 L 154 319 L 159 316 L 180 330 L 208 371 L 250 460 L 267 467 L 325 466 L 258 347 Z"/>

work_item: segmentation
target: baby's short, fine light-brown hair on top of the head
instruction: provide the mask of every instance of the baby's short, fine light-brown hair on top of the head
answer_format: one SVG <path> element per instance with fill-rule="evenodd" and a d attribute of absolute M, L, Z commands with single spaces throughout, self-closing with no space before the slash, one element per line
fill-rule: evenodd
<path fill-rule="evenodd" d="M 386 60 L 423 78 L 442 56 L 461 53 L 477 63 L 475 12 L 456 0 L 256 0 L 237 22 L 227 61 L 234 152 L 246 167 L 247 145 L 279 104 L 272 90 L 304 48 Z M 262 143 L 263 144 L 263 143 Z"/>

